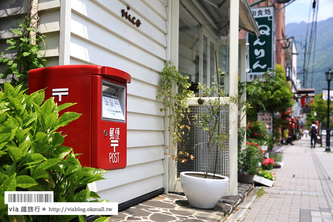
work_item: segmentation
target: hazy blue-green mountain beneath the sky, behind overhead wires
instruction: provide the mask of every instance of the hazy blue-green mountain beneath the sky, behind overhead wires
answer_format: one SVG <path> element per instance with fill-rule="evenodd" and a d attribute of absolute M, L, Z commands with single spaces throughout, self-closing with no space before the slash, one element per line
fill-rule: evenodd
<path fill-rule="evenodd" d="M 309 48 L 310 30 L 312 23 L 309 25 L 305 22 L 290 23 L 286 25 L 286 35 L 294 37 L 297 47 L 297 78 L 302 82 L 302 88 L 315 88 L 315 93 L 319 93 L 323 88 L 327 89 L 327 81 L 325 79 L 325 72 L 328 69 L 333 71 L 333 17 L 325 21 L 317 22 L 317 34 L 315 42 L 311 49 L 311 56 L 308 66 L 307 81 L 303 86 L 303 61 L 304 61 L 304 46 L 306 40 L 306 30 L 308 28 L 307 36 L 307 49 Z M 313 60 L 314 55 L 314 60 Z M 306 62 L 308 62 L 309 54 L 306 54 Z M 314 61 L 314 63 L 313 63 Z M 312 66 L 313 64 L 313 66 Z M 332 89 L 333 81 L 331 81 L 330 89 Z"/>

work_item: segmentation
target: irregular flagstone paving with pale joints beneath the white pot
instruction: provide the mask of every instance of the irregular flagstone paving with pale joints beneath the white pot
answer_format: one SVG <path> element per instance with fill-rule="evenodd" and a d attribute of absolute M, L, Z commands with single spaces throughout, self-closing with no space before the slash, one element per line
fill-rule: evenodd
<path fill-rule="evenodd" d="M 181 194 L 162 194 L 122 210 L 118 215 L 111 216 L 108 221 L 224 221 L 253 188 L 253 184 L 239 183 L 238 196 L 223 196 L 213 209 L 192 207 L 188 204 L 186 197 Z"/>

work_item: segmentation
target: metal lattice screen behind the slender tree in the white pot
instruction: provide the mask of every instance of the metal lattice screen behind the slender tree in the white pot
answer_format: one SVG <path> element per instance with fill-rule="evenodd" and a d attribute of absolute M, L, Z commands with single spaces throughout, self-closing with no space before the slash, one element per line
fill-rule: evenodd
<path fill-rule="evenodd" d="M 190 125 L 190 130 L 185 132 L 185 134 L 188 133 L 188 139 L 185 138 L 180 145 L 185 148 L 186 152 L 193 154 L 195 156 L 195 159 L 188 160 L 185 163 L 178 162 L 178 175 L 184 171 L 205 172 L 208 167 L 208 151 L 206 147 L 207 145 L 200 144 L 202 143 L 202 141 L 207 141 L 208 135 L 198 127 L 195 127 L 193 124 L 193 116 L 202 112 L 207 112 L 208 108 L 205 105 L 190 106 L 190 110 L 191 112 L 189 113 L 188 118 L 183 119 L 183 124 Z M 220 131 L 223 131 L 225 134 L 229 135 L 229 107 L 225 107 L 223 110 L 221 110 L 220 115 Z M 185 137 L 187 136 L 185 135 Z M 226 147 L 226 149 L 218 152 L 216 174 L 229 177 L 229 139 L 223 141 L 223 146 Z M 210 153 L 211 163 L 209 167 L 209 173 L 214 173 L 216 146 L 213 147 L 211 150 L 212 152 Z"/>

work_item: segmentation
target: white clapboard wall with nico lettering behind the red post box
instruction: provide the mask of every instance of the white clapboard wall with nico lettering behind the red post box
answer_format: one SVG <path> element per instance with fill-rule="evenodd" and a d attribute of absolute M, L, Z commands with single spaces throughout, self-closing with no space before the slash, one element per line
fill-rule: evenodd
<path fill-rule="evenodd" d="M 7 26 L 13 28 L 16 18 L 27 11 L 27 0 L 20 2 L 22 6 L 16 2 L 20 1 L 0 1 L 2 51 L 12 36 Z M 89 185 L 102 199 L 124 203 L 163 188 L 164 113 L 156 94 L 167 60 L 167 7 L 167 0 L 39 0 L 38 29 L 47 36 L 46 52 L 41 50 L 49 60 L 47 66 L 97 64 L 132 77 L 127 167 L 109 171 L 106 180 Z M 122 17 L 123 9 L 140 19 L 140 27 Z M 11 14 L 5 16 L 7 12 Z"/>

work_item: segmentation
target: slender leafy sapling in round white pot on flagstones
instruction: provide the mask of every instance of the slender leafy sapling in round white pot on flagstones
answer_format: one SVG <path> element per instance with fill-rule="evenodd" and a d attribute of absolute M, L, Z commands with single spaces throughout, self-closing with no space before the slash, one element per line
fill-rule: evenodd
<path fill-rule="evenodd" d="M 224 73 L 218 74 L 219 77 Z M 229 106 L 225 101 L 223 86 L 212 83 L 209 87 L 205 84 L 198 84 L 202 93 L 199 104 L 205 103 L 207 109 L 193 117 L 194 126 L 198 127 L 207 135 L 207 141 L 196 144 L 194 148 L 207 150 L 207 168 L 205 172 L 182 172 L 180 182 L 189 204 L 198 208 L 213 208 L 218 200 L 225 193 L 229 178 L 216 174 L 217 156 L 226 147 L 224 142 L 229 138 L 226 129 L 221 126 L 223 110 Z M 214 159 L 212 159 L 214 157 Z M 213 169 L 211 169 L 211 167 Z M 212 173 L 209 173 L 212 172 Z"/>

